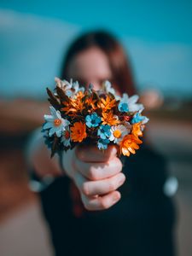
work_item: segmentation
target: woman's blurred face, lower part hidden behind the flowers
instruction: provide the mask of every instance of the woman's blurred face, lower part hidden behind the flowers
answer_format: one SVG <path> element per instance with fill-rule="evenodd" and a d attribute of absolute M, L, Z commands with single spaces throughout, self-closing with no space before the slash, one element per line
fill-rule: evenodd
<path fill-rule="evenodd" d="M 85 49 L 69 63 L 68 77 L 85 87 L 91 83 L 95 90 L 99 90 L 103 81 L 112 80 L 108 57 L 99 48 Z"/>

